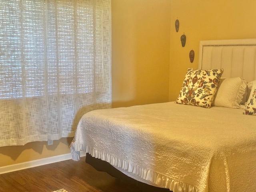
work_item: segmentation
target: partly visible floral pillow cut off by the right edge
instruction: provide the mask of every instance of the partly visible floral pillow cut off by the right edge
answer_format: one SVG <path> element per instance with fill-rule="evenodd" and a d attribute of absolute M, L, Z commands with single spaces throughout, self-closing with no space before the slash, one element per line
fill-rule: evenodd
<path fill-rule="evenodd" d="M 256 80 L 250 83 L 252 83 L 252 90 L 243 114 L 256 115 Z"/>

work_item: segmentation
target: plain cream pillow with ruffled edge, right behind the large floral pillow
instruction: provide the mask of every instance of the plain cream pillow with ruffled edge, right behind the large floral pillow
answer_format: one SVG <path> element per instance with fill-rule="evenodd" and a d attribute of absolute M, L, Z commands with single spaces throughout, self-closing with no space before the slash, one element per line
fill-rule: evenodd
<path fill-rule="evenodd" d="M 212 106 L 242 108 L 247 94 L 247 81 L 244 78 L 221 78 Z"/>

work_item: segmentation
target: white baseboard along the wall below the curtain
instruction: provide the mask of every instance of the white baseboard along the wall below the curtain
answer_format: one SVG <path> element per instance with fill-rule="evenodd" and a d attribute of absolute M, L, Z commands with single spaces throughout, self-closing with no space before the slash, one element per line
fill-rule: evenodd
<path fill-rule="evenodd" d="M 84 157 L 84 156 L 86 156 L 86 153 L 83 151 L 80 151 L 80 157 Z M 68 153 L 68 154 L 28 161 L 24 163 L 3 166 L 3 167 L 0 167 L 0 174 L 14 172 L 22 169 L 37 167 L 37 166 L 51 164 L 51 163 L 56 163 L 60 161 L 70 160 L 71 158 L 72 158 L 71 154 Z"/>

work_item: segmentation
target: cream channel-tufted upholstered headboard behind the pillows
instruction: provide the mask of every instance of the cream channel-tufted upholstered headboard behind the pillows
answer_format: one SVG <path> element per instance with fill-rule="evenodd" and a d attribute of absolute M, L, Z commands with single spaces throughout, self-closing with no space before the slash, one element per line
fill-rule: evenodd
<path fill-rule="evenodd" d="M 222 77 L 256 79 L 256 39 L 200 41 L 199 69 L 223 68 Z"/>

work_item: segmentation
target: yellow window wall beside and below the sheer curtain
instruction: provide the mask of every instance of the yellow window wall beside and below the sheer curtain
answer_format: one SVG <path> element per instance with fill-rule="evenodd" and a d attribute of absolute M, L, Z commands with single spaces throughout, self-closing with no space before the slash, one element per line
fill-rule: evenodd
<path fill-rule="evenodd" d="M 113 107 L 167 102 L 170 0 L 112 0 Z M 0 167 L 70 152 L 72 138 L 0 148 Z"/>

